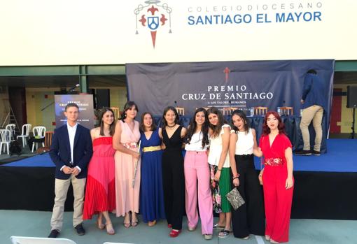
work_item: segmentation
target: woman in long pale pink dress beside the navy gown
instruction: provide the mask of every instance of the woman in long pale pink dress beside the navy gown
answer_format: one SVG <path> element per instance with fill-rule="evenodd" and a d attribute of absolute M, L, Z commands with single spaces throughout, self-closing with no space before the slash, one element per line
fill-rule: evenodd
<path fill-rule="evenodd" d="M 123 115 L 116 123 L 116 132 L 113 136 L 113 148 L 116 162 L 116 216 L 125 216 L 126 228 L 136 227 L 138 224 L 140 192 L 140 154 L 138 141 L 140 138 L 139 122 L 135 121 L 138 108 L 133 101 L 127 101 Z M 134 168 L 137 163 L 137 173 Z M 131 214 L 131 215 L 130 215 Z"/>

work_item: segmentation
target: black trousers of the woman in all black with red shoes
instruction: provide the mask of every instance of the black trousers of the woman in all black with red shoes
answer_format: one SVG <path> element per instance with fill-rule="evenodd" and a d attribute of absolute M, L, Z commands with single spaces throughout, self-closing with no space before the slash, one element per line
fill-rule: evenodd
<path fill-rule="evenodd" d="M 181 150 L 164 150 L 162 154 L 162 183 L 165 214 L 172 229 L 182 229 L 185 208 L 185 178 Z"/>

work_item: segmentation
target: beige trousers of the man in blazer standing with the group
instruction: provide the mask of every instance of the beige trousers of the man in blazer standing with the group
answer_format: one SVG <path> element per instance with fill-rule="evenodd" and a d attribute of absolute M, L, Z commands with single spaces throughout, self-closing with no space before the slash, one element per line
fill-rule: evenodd
<path fill-rule="evenodd" d="M 69 185 L 73 187 L 73 227 L 83 222 L 83 203 L 85 193 L 86 178 L 77 179 L 71 175 L 66 180 L 55 179 L 55 204 L 53 206 L 51 217 L 51 228 L 62 230 L 64 202 L 66 201 Z"/>

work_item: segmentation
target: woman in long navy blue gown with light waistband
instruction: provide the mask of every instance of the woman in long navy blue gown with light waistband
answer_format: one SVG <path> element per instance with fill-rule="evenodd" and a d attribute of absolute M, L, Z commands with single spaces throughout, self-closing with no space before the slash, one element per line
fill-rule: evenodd
<path fill-rule="evenodd" d="M 165 219 L 162 189 L 161 128 L 156 129 L 151 113 L 141 116 L 141 187 L 140 212 L 144 222 L 153 227 Z"/>

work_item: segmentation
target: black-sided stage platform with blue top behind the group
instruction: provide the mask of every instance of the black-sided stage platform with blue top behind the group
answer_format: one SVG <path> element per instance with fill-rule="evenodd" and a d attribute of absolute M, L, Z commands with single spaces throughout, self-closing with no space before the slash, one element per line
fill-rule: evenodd
<path fill-rule="evenodd" d="M 357 220 L 357 140 L 329 139 L 327 148 L 328 153 L 321 156 L 294 155 L 291 215 Z M 255 159 L 255 168 L 260 169 L 259 159 Z M 48 154 L 1 165 L 0 209 L 52 210 L 54 177 L 55 165 Z M 73 197 L 67 199 L 65 209 L 73 210 Z"/>

